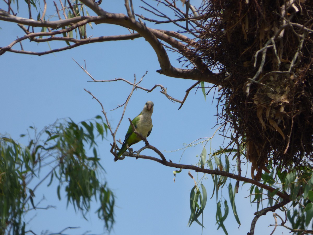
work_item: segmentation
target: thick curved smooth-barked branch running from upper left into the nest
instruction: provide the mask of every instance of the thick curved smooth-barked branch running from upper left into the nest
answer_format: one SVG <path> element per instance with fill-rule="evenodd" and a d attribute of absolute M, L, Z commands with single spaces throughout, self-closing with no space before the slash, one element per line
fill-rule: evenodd
<path fill-rule="evenodd" d="M 57 20 L 57 21 L 36 21 L 33 19 L 24 19 L 20 17 L 16 17 L 6 13 L 5 11 L 1 11 L 0 15 L 3 20 L 12 21 L 15 23 L 21 23 L 30 26 L 38 26 L 38 27 L 50 27 L 50 28 L 59 28 L 60 26 L 65 26 L 72 24 L 67 29 L 61 29 L 58 31 L 51 31 L 51 32 L 38 32 L 38 33 L 29 33 L 24 37 L 14 40 L 10 45 L 7 47 L 3 47 L 0 50 L 0 55 L 2 55 L 5 51 L 11 50 L 12 46 L 24 39 L 33 38 L 35 36 L 52 36 L 55 34 L 66 33 L 72 31 L 73 29 L 85 25 L 90 22 L 94 22 L 95 24 L 116 24 L 120 25 L 125 28 L 133 29 L 138 32 L 142 37 L 146 39 L 146 41 L 152 46 L 153 50 L 157 55 L 157 59 L 159 61 L 160 70 L 157 70 L 160 74 L 164 74 L 166 76 L 177 77 L 177 78 L 186 78 L 192 79 L 197 81 L 207 81 L 213 84 L 219 84 L 219 74 L 214 74 L 212 71 L 208 70 L 207 66 L 203 64 L 199 57 L 193 57 L 193 53 L 190 52 L 187 47 L 182 44 L 181 42 L 175 40 L 174 38 L 170 37 L 169 35 L 162 33 L 155 29 L 149 29 L 144 24 L 136 21 L 132 17 L 128 17 L 122 13 L 109 13 L 101 9 L 94 1 L 91 0 L 81 0 L 86 6 L 91 8 L 98 16 L 84 16 L 84 17 L 74 17 L 70 19 L 64 20 Z M 74 24 L 73 24 L 74 23 Z M 186 56 L 191 62 L 197 67 L 194 69 L 180 69 L 172 66 L 167 52 L 164 49 L 162 43 L 158 40 L 162 39 L 172 45 L 173 47 L 177 48 L 178 50 L 183 52 L 183 55 Z M 187 38 L 185 38 L 187 40 Z M 87 42 L 86 42 L 87 43 Z M 66 50 L 72 47 L 76 47 L 78 45 L 71 45 L 68 47 L 64 47 L 59 50 Z M 53 51 L 59 51 L 58 49 Z M 13 50 L 12 50 L 13 51 Z M 18 53 L 23 53 L 23 51 L 14 51 Z M 25 54 L 34 54 L 26 52 Z M 37 55 L 47 54 L 38 53 Z"/>

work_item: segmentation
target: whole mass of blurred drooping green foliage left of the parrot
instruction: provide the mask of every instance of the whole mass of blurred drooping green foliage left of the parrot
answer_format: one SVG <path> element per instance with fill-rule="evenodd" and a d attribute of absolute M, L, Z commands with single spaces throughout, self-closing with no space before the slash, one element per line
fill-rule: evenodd
<path fill-rule="evenodd" d="M 0 234 L 25 232 L 23 216 L 30 209 L 36 209 L 39 200 L 35 193 L 44 181 L 39 181 L 41 179 L 49 179 L 47 186 L 55 185 L 52 182 L 56 180 L 59 200 L 63 199 L 65 191 L 68 205 L 71 203 L 84 217 L 90 212 L 94 197 L 100 202 L 98 217 L 110 230 L 114 223 L 115 200 L 107 183 L 98 180 L 104 169 L 95 142 L 96 138 L 103 139 L 107 134 L 107 125 L 102 118 L 97 116 L 96 120 L 78 124 L 73 120 L 64 121 L 39 134 L 33 127 L 30 129 L 35 132 L 33 138 L 21 135 L 28 136 L 28 146 L 7 136 L 0 138 Z M 48 173 L 41 176 L 42 172 Z M 30 187 L 33 180 L 38 180 L 36 186 Z"/>

